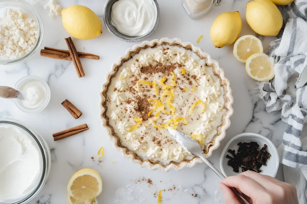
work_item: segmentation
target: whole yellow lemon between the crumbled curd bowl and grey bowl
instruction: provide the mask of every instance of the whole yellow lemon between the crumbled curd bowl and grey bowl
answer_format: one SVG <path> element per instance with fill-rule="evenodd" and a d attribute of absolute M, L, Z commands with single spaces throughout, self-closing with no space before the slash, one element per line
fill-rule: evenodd
<path fill-rule="evenodd" d="M 99 17 L 86 6 L 72 5 L 61 14 L 65 30 L 77 39 L 93 39 L 102 33 Z"/>

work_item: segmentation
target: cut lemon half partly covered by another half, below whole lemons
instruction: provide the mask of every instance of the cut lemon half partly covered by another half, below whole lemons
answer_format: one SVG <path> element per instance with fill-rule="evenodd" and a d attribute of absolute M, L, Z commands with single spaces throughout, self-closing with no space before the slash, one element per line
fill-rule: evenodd
<path fill-rule="evenodd" d="M 255 53 L 262 53 L 263 47 L 261 40 L 254 35 L 243 35 L 233 47 L 233 55 L 240 62 L 246 62 L 247 58 Z"/>

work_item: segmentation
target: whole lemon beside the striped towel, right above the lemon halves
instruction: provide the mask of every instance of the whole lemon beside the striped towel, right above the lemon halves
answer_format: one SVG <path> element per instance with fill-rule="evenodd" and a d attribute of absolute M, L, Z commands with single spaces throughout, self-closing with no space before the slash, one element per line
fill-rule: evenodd
<path fill-rule="evenodd" d="M 282 14 L 270 0 L 247 2 L 246 20 L 251 29 L 260 35 L 276 36 L 282 28 Z"/>

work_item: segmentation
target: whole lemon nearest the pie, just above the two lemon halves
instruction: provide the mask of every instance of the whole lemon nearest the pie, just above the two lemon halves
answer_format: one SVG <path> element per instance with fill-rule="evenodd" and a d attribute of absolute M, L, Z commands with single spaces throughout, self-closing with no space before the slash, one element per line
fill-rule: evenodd
<path fill-rule="evenodd" d="M 216 17 L 210 29 L 210 37 L 215 47 L 231 45 L 242 29 L 239 11 L 224 12 Z"/>

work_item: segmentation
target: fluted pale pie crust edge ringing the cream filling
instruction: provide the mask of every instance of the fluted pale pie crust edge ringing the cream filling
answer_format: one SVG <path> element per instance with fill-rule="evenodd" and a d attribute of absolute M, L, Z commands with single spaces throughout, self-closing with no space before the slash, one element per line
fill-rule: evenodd
<path fill-rule="evenodd" d="M 107 132 L 110 136 L 111 141 L 115 149 L 122 152 L 123 156 L 127 159 L 130 159 L 134 163 L 141 165 L 142 167 L 148 167 L 151 170 L 161 169 L 165 172 L 170 169 L 181 170 L 185 167 L 193 167 L 196 163 L 201 163 L 202 160 L 200 158 L 194 157 L 191 160 L 183 160 L 180 162 L 170 161 L 168 164 L 162 164 L 159 161 L 152 161 L 150 159 L 142 159 L 139 157 L 134 151 L 129 150 L 127 147 L 123 147 L 120 144 L 119 137 L 115 134 L 113 127 L 109 124 L 109 118 L 106 115 L 107 106 L 106 106 L 106 97 L 108 87 L 111 83 L 111 79 L 118 72 L 121 65 L 128 61 L 134 54 L 138 53 L 140 50 L 153 47 L 156 45 L 174 45 L 181 46 L 187 50 L 192 50 L 196 53 L 201 59 L 206 61 L 206 65 L 212 68 L 212 71 L 215 76 L 220 79 L 220 85 L 223 87 L 223 96 L 224 96 L 224 108 L 226 109 L 223 114 L 223 118 L 220 126 L 218 127 L 218 133 L 213 137 L 211 142 L 209 142 L 204 148 L 204 156 L 206 158 L 212 155 L 212 151 L 217 149 L 220 146 L 220 141 L 226 136 L 226 129 L 230 126 L 230 117 L 233 114 L 232 103 L 232 90 L 230 88 L 229 80 L 225 77 L 224 70 L 220 68 L 219 63 L 211 58 L 211 56 L 204 52 L 201 48 L 194 46 L 192 43 L 186 43 L 178 38 L 162 38 L 160 40 L 155 39 L 152 41 L 144 41 L 141 44 L 134 45 L 132 49 L 128 49 L 126 54 L 119 58 L 119 60 L 112 65 L 111 72 L 107 74 L 107 82 L 103 84 L 102 91 L 100 92 L 100 102 L 99 106 L 101 108 L 100 118 L 102 120 L 102 125 L 107 129 Z"/>

